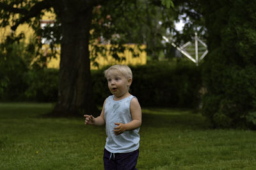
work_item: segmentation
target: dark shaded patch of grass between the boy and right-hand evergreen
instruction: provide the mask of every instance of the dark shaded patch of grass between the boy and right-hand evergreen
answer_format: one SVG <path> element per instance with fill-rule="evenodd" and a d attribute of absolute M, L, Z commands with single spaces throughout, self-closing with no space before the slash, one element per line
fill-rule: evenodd
<path fill-rule="evenodd" d="M 143 109 L 144 127 L 173 128 L 177 130 L 205 130 L 212 128 L 200 113 L 188 109 L 150 108 Z"/>

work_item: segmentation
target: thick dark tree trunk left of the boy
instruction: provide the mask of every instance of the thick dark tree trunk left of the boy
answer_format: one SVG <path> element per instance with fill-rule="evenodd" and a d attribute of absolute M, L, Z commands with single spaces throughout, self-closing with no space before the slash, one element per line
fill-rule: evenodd
<path fill-rule="evenodd" d="M 81 6 L 80 6 L 81 7 Z M 75 116 L 97 114 L 90 72 L 90 24 L 92 8 L 76 11 L 74 6 L 60 13 L 62 36 L 58 102 L 53 114 Z"/>

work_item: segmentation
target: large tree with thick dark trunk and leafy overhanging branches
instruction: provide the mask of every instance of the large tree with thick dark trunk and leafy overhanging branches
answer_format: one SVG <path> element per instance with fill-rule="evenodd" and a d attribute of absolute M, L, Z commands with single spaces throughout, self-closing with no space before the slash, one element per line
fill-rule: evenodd
<path fill-rule="evenodd" d="M 129 25 L 131 24 L 129 17 L 140 17 L 140 15 L 132 15 L 132 11 L 125 15 L 122 10 L 136 9 L 136 2 L 2 0 L 0 2 L 0 26 L 6 27 L 10 25 L 12 30 L 15 30 L 20 24 L 26 22 L 35 29 L 37 35 L 49 36 L 51 29 L 45 29 L 44 31 L 40 29 L 40 18 L 44 15 L 45 10 L 51 10 L 56 13 L 57 27 L 52 29 L 56 29 L 54 33 L 56 33 L 55 36 L 57 38 L 56 42 L 53 43 L 61 42 L 61 61 L 58 102 L 53 112 L 60 115 L 72 115 L 81 112 L 93 114 L 97 112 L 97 107 L 93 102 L 89 43 L 93 43 L 95 37 L 100 37 L 100 34 L 104 35 L 104 38 L 111 40 L 111 43 L 116 45 L 111 52 L 116 59 L 120 59 L 117 56 L 117 52 L 124 51 L 122 43 L 127 43 L 123 37 L 131 35 L 131 33 L 129 34 L 131 29 L 126 31 L 124 27 L 120 26 L 127 23 L 125 26 L 131 27 Z M 170 0 L 152 0 L 151 2 L 152 4 L 157 2 L 158 5 L 163 3 L 167 7 L 172 6 L 172 1 Z M 102 10 L 100 10 L 102 13 L 97 12 L 99 5 L 102 6 Z M 104 8 L 104 6 L 108 7 Z M 111 16 L 111 19 L 109 19 L 108 15 Z M 127 17 L 127 20 L 122 19 L 120 16 Z M 119 22 L 120 20 L 122 22 Z M 58 33 L 58 31 L 60 32 Z M 92 31 L 94 36 L 90 36 Z M 122 38 L 118 37 L 118 35 L 122 35 Z M 94 50 L 95 54 L 103 50 L 100 47 L 94 47 L 96 48 Z M 96 56 L 92 56 L 92 58 Z"/>

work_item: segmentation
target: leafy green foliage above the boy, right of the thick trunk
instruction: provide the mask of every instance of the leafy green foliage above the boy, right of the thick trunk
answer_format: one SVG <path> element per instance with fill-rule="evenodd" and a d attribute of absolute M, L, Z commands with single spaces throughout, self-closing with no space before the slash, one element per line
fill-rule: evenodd
<path fill-rule="evenodd" d="M 165 1 L 163 2 L 164 5 L 169 5 Z M 116 52 L 124 51 L 122 44 L 145 44 L 148 59 L 158 60 L 159 54 L 166 48 L 162 43 L 162 36 L 171 34 L 167 33 L 166 30 L 173 28 L 174 20 L 177 19 L 179 14 L 177 12 L 178 8 L 173 8 L 172 3 L 170 3 L 170 6 L 172 6 L 172 9 L 170 9 L 171 7 L 166 8 L 161 5 L 159 0 L 137 0 L 134 3 L 131 3 L 131 1 L 115 1 L 115 3 L 111 2 L 109 5 L 100 6 L 98 12 L 94 13 L 97 16 L 93 17 L 96 20 L 92 23 L 93 35 L 91 41 L 95 41 L 99 37 L 110 40 L 109 42 L 113 45 L 112 48 L 115 49 L 111 51 L 111 54 L 114 57 L 116 56 L 116 59 L 120 59 Z M 99 23 L 101 24 L 99 25 Z M 118 38 L 112 38 L 113 35 L 118 35 Z M 106 51 L 102 50 L 104 47 L 99 49 L 95 42 L 90 44 L 96 44 L 96 46 L 93 46 L 93 51 Z M 129 50 L 133 52 L 134 56 L 138 55 L 134 53 L 133 49 Z M 92 56 L 97 57 L 97 52 L 93 52 Z"/>

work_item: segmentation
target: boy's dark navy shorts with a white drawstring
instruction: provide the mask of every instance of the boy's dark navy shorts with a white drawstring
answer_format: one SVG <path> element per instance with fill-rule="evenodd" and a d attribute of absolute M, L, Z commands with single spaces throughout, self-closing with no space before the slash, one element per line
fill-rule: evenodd
<path fill-rule="evenodd" d="M 110 153 L 104 149 L 104 169 L 136 169 L 139 149 L 129 153 Z"/>

